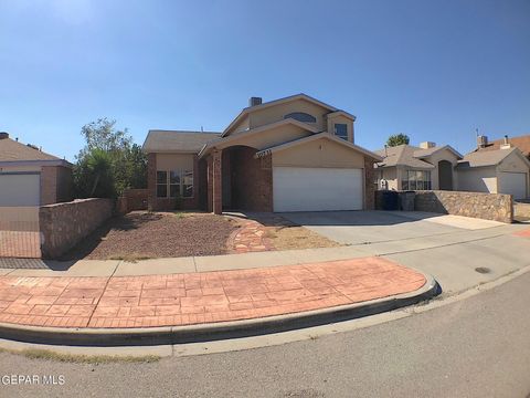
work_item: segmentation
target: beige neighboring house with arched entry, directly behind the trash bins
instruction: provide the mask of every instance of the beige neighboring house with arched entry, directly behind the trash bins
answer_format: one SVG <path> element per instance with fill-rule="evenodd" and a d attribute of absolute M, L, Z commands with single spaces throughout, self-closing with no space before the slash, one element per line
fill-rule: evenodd
<path fill-rule="evenodd" d="M 454 190 L 457 187 L 455 167 L 462 155 L 448 145 L 403 144 L 375 150 L 375 154 L 383 158 L 375 166 L 379 189 Z"/>

